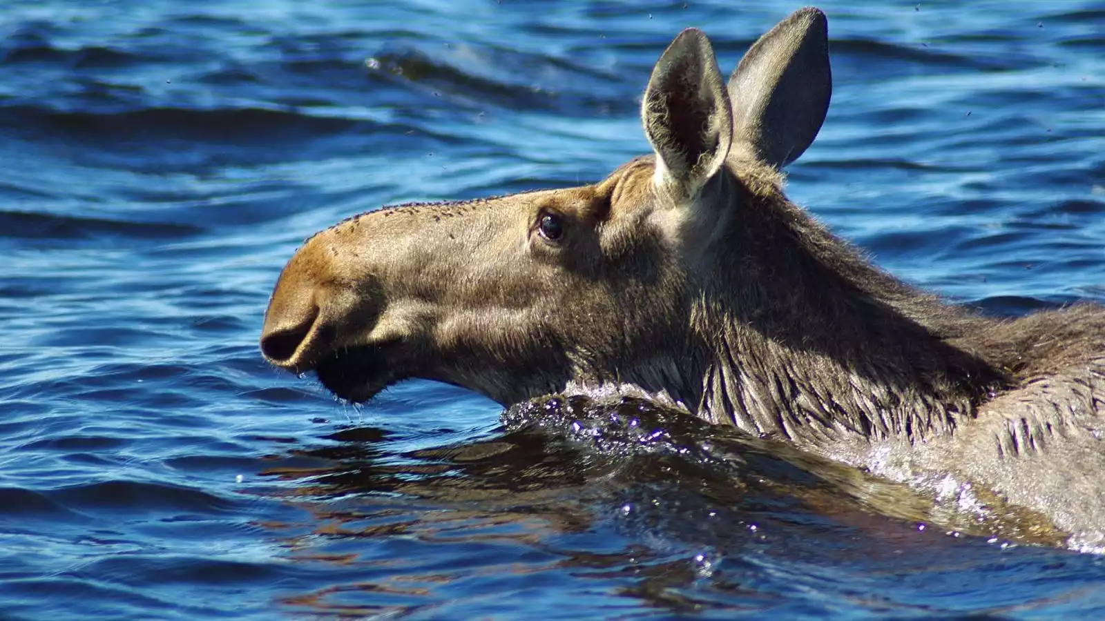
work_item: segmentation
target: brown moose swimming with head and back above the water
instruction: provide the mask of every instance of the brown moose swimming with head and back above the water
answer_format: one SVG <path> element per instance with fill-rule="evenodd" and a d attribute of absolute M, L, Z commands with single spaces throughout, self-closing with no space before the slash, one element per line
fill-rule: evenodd
<path fill-rule="evenodd" d="M 819 9 L 727 83 L 684 30 L 641 102 L 652 155 L 593 185 L 339 222 L 284 267 L 261 350 L 352 402 L 407 378 L 504 406 L 632 387 L 875 474 L 947 474 L 1105 543 L 1105 307 L 986 316 L 790 202 L 781 171 L 831 92 Z"/>

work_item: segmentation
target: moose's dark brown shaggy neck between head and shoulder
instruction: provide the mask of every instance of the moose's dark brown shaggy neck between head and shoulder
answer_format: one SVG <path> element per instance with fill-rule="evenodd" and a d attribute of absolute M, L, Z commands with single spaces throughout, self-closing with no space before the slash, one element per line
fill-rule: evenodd
<path fill-rule="evenodd" d="M 699 415 L 798 442 L 950 433 L 1004 379 L 968 351 L 989 324 L 873 266 L 770 181 L 729 192 L 728 252 L 692 329 Z"/>

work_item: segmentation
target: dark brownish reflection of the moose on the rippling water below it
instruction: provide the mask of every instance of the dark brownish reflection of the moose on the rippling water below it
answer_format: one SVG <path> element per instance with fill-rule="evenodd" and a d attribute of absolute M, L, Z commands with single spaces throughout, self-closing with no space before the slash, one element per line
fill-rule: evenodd
<path fill-rule="evenodd" d="M 780 593 L 808 590 L 802 581 L 817 583 L 824 567 L 870 581 L 886 571 L 881 562 L 893 573 L 904 559 L 930 569 L 924 559 L 934 543 L 954 541 L 949 531 L 1010 530 L 999 512 L 949 511 L 643 401 L 555 398 L 503 420 L 494 436 L 406 453 L 389 449 L 386 431 L 345 429 L 325 439 L 337 443 L 296 453 L 316 465 L 269 471 L 292 483 L 278 494 L 311 516 L 285 537 L 291 557 L 351 571 L 284 603 L 409 612 L 445 606 L 453 591 L 476 606 L 482 587 L 502 593 L 504 581 L 539 597 L 556 579 L 578 582 L 583 596 L 622 594 L 627 610 L 774 610 L 796 606 Z"/>

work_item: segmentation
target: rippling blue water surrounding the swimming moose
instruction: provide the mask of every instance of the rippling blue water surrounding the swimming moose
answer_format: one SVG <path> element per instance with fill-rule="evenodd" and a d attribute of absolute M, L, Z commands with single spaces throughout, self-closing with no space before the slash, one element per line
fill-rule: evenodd
<path fill-rule="evenodd" d="M 792 198 L 996 313 L 1105 298 L 1105 7 L 822 7 L 833 103 Z M 0 618 L 1105 614 L 1101 556 L 441 385 L 354 408 L 261 360 L 308 234 L 599 179 L 646 152 L 680 29 L 729 71 L 796 8 L 7 0 Z"/>

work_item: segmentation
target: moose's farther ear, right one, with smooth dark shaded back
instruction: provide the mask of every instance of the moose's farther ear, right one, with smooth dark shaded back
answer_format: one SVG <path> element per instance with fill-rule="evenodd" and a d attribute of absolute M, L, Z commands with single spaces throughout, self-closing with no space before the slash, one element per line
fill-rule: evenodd
<path fill-rule="evenodd" d="M 813 143 L 829 110 L 829 21 L 799 9 L 748 49 L 729 77 L 734 138 L 782 168 Z"/>

